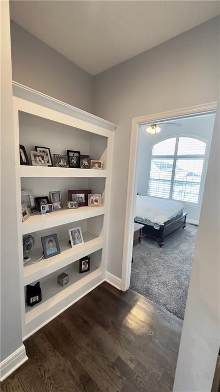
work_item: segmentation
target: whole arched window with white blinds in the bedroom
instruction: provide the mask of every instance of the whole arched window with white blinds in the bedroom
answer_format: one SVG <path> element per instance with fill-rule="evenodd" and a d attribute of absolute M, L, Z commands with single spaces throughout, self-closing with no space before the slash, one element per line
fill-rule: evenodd
<path fill-rule="evenodd" d="M 152 148 L 148 195 L 198 203 L 206 143 L 170 137 Z"/>

